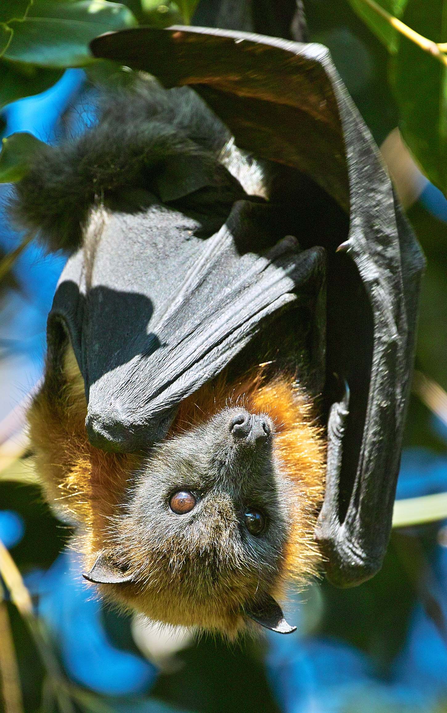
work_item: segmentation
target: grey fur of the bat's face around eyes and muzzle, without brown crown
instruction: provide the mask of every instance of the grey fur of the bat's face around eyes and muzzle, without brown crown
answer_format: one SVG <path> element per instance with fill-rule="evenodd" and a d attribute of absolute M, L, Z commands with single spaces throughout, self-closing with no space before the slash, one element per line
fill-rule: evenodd
<path fill-rule="evenodd" d="M 250 419 L 247 433 L 238 433 Z M 250 578 L 256 573 L 260 587 L 271 581 L 287 537 L 287 497 L 281 492 L 273 439 L 268 416 L 236 407 L 158 446 L 138 473 L 125 515 L 143 563 L 153 565 L 169 548 L 178 554 L 175 562 L 170 558 L 176 571 L 197 574 L 200 558 L 207 560 L 207 573 L 212 570 L 202 582 L 207 595 L 212 595 L 213 583 L 218 589 L 219 578 L 231 578 L 235 570 L 242 577 L 244 571 Z M 170 498 L 177 491 L 195 496 L 190 512 L 171 511 Z M 260 535 L 250 534 L 245 525 L 245 513 L 253 510 L 265 518 Z M 143 565 L 137 576 L 144 578 L 144 570 Z M 150 570 L 154 576 L 153 566 Z"/>

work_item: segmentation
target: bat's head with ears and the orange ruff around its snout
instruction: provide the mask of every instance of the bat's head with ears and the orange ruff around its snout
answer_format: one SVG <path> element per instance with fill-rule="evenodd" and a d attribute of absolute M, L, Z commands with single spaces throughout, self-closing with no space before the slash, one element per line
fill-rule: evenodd
<path fill-rule="evenodd" d="M 153 620 L 233 637 L 251 619 L 288 633 L 294 628 L 274 597 L 288 575 L 301 578 L 317 563 L 312 530 L 324 458 L 307 424 L 308 442 L 301 434 L 294 451 L 309 458 L 313 438 L 319 481 L 309 491 L 309 462 L 294 465 L 301 484 L 291 477 L 289 429 L 298 436 L 304 422 L 290 380 L 262 387 L 257 379 L 241 390 L 235 396 L 233 386 L 222 408 L 225 386 L 183 404 L 170 438 L 134 473 L 107 550 L 86 576 Z"/>

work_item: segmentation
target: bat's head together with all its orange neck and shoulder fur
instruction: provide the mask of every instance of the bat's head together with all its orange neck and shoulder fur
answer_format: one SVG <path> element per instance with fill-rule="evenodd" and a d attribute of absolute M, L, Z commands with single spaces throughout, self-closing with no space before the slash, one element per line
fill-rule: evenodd
<path fill-rule="evenodd" d="M 86 434 L 71 349 L 65 384 L 29 412 L 35 462 L 77 525 L 86 578 L 153 620 L 235 637 L 254 619 L 291 631 L 274 597 L 322 562 L 314 526 L 325 448 L 294 379 L 205 384 L 146 456 L 106 453 Z"/>

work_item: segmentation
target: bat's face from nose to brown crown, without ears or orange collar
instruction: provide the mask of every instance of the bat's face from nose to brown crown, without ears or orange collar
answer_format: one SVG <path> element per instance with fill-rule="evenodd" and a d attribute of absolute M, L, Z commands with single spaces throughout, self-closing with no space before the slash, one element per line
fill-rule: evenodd
<path fill-rule="evenodd" d="M 289 533 L 274 438 L 267 414 L 225 408 L 143 463 L 113 544 L 151 618 L 235 632 L 272 590 Z"/>

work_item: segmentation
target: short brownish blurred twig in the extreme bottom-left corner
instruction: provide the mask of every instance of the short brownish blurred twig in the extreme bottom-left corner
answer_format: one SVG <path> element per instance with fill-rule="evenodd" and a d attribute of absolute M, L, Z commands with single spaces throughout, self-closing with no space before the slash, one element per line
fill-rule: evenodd
<path fill-rule="evenodd" d="M 8 610 L 0 585 L 0 688 L 5 713 L 24 713 L 21 697 L 19 666 L 11 634 Z"/>

